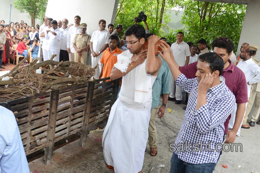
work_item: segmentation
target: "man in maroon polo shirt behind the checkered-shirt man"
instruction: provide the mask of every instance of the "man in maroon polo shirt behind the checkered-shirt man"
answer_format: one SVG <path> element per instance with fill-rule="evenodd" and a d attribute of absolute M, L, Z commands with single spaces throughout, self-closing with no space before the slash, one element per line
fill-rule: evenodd
<path fill-rule="evenodd" d="M 231 63 L 229 60 L 234 44 L 227 37 L 218 37 L 212 42 L 213 52 L 217 53 L 224 60 L 224 70 L 222 76 L 225 78 L 226 85 L 230 91 L 235 95 L 237 103 L 237 112 L 235 116 L 235 123 L 233 129 L 228 130 L 229 119 L 231 115 L 226 119 L 224 126 L 224 136 L 226 135 L 225 143 L 233 143 L 235 141 L 237 131 L 242 122 L 244 112 L 246 110 L 247 102 L 247 85 L 246 77 L 244 73 Z M 189 65 L 179 67 L 177 63 L 174 64 L 179 67 L 181 73 L 183 73 L 187 78 L 196 78 L 195 74 L 197 72 L 197 63 L 191 63 Z M 224 138 L 224 137 L 223 137 Z"/>

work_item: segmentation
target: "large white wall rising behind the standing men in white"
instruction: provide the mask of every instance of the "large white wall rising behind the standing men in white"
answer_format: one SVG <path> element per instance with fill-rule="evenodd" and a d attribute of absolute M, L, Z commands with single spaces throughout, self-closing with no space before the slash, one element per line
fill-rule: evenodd
<path fill-rule="evenodd" d="M 117 6 L 118 0 L 49 0 L 46 16 L 53 20 L 67 18 L 74 24 L 74 16 L 79 15 L 81 23 L 88 25 L 87 32 L 92 35 L 99 29 L 100 19 L 106 20 L 107 25 L 114 23 Z"/>

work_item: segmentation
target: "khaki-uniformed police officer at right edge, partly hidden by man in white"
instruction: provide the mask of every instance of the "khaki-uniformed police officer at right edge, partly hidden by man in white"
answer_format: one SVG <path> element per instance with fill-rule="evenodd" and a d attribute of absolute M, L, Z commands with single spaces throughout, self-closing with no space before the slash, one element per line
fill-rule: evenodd
<path fill-rule="evenodd" d="M 253 51 L 253 54 L 251 57 L 252 60 L 257 65 L 260 65 L 260 63 L 254 58 L 256 55 L 256 51 L 259 49 L 259 46 L 252 44 L 252 45 L 249 45 L 248 47 Z M 247 125 L 246 122 L 248 119 L 248 115 L 249 115 L 255 101 L 256 101 L 256 103 L 255 103 L 255 107 L 253 108 L 254 111 L 252 114 L 252 118 L 250 118 L 250 123 L 249 123 L 249 125 Z M 244 117 L 244 120 L 242 123 L 242 128 L 249 129 L 250 126 L 254 127 L 255 122 L 257 121 L 257 119 L 259 117 L 259 114 L 260 114 L 260 82 L 252 84 L 251 91 L 250 91 L 250 97 L 248 99 L 248 104 L 246 107 L 246 114 L 245 114 L 245 117 Z M 260 122 L 257 122 L 257 124 L 260 124 Z"/>

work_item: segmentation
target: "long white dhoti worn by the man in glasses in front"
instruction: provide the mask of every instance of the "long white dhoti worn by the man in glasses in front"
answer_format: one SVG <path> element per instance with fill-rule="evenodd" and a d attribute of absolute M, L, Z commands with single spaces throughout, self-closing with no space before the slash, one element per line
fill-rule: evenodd
<path fill-rule="evenodd" d="M 105 163 L 115 173 L 142 170 L 148 139 L 150 110 L 138 110 L 122 104 L 120 98 L 111 108 L 103 133 Z"/>

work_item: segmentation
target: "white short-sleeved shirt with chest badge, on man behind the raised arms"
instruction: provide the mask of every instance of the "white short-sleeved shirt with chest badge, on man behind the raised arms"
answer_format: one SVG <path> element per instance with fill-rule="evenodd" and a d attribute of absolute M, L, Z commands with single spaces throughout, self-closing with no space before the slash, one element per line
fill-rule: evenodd
<path fill-rule="evenodd" d="M 171 46 L 171 51 L 176 63 L 179 66 L 184 66 L 186 62 L 186 57 L 190 56 L 190 46 L 184 41 L 182 41 L 180 44 L 178 44 L 178 42 L 175 42 Z"/>

